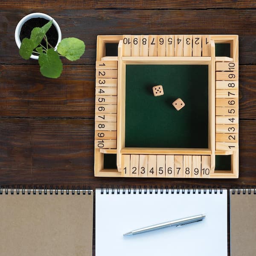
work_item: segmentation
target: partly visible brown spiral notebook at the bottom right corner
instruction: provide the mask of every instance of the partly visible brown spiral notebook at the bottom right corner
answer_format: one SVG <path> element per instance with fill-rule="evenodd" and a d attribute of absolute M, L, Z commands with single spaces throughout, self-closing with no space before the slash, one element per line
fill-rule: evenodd
<path fill-rule="evenodd" d="M 231 256 L 256 255 L 256 191 L 230 190 Z"/>

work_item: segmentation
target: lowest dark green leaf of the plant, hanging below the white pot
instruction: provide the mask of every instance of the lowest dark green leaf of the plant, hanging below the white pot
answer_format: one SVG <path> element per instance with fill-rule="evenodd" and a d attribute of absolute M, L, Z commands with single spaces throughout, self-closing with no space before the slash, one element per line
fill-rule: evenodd
<path fill-rule="evenodd" d="M 62 72 L 62 62 L 57 52 L 50 48 L 47 53 L 41 53 L 38 58 L 40 72 L 49 78 L 58 78 Z"/>

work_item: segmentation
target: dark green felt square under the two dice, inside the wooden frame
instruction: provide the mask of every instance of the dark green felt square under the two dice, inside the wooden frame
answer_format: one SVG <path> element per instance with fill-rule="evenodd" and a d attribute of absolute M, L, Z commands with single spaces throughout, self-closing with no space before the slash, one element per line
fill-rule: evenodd
<path fill-rule="evenodd" d="M 126 65 L 125 97 L 125 147 L 208 148 L 208 65 Z"/>

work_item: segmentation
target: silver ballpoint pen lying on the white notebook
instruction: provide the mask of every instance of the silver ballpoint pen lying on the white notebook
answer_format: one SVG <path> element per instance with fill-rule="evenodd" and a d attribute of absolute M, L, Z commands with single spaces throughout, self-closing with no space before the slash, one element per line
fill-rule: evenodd
<path fill-rule="evenodd" d="M 159 223 L 159 224 L 154 224 L 154 225 L 151 225 L 148 227 L 142 227 L 137 230 L 133 230 L 131 232 L 125 233 L 123 235 L 131 236 L 131 235 L 137 235 L 137 234 L 148 232 L 148 231 L 158 230 L 158 229 L 164 228 L 164 227 L 173 227 L 173 226 L 179 227 L 179 226 L 183 226 L 183 225 L 190 224 L 193 222 L 202 221 L 204 218 L 205 218 L 204 214 L 199 214 L 199 215 L 195 215 L 195 216 L 177 219 L 174 221 L 167 221 L 167 222 L 163 222 L 163 223 Z"/>

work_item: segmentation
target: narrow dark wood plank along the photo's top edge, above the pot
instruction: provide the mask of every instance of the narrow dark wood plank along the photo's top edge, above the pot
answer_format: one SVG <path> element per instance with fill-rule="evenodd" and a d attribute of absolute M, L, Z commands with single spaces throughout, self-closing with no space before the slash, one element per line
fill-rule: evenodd
<path fill-rule="evenodd" d="M 14 6 L 19 6 L 20 9 L 253 9 L 256 3 L 251 0 L 2 0 L 2 6 L 4 9 L 13 9 Z"/>

